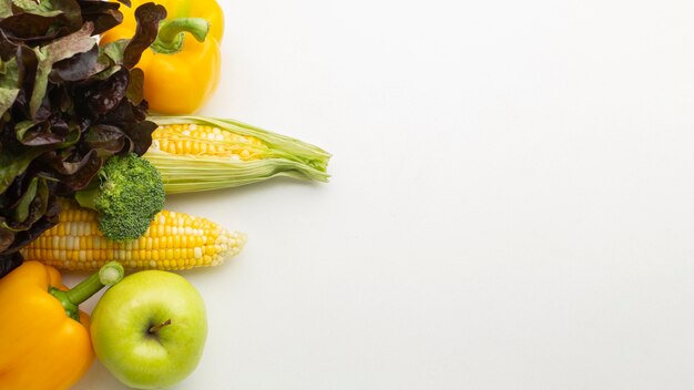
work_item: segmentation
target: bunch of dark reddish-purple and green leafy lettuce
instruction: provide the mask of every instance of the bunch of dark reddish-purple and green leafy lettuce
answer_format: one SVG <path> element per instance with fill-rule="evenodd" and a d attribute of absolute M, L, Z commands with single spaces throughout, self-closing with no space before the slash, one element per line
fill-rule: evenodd
<path fill-rule="evenodd" d="M 58 223 L 57 196 L 86 188 L 109 157 L 150 147 L 156 125 L 134 66 L 166 11 L 139 7 L 133 38 L 99 47 L 121 23 L 119 7 L 0 0 L 0 277 Z"/>

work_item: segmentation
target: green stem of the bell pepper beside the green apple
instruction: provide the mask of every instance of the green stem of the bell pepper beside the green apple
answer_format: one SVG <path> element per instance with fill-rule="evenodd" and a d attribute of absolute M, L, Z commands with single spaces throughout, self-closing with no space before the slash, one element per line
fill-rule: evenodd
<path fill-rule="evenodd" d="M 79 305 L 96 294 L 104 286 L 113 286 L 121 281 L 124 274 L 125 271 L 120 263 L 109 261 L 104 264 L 98 273 L 92 274 L 73 288 L 63 291 L 51 287 L 50 292 L 60 300 L 65 308 L 65 314 L 79 321 Z"/>

